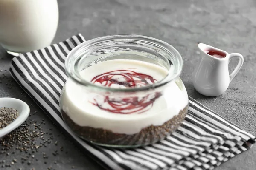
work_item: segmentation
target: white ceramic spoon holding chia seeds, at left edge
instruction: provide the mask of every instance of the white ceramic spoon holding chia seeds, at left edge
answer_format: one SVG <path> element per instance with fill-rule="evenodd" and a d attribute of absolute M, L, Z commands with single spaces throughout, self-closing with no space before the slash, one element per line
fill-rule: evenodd
<path fill-rule="evenodd" d="M 19 112 L 19 116 L 12 123 L 0 129 L 0 139 L 8 133 L 19 127 L 29 116 L 30 108 L 25 102 L 15 98 L 3 97 L 0 98 L 0 108 L 14 108 Z"/>

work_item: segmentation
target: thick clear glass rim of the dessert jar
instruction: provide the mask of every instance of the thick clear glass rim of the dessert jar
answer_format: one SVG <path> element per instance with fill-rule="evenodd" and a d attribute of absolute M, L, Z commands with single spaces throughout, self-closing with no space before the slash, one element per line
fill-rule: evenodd
<path fill-rule="evenodd" d="M 97 45 L 102 42 L 113 42 L 113 41 L 120 41 L 120 40 L 133 40 L 133 41 L 139 41 L 139 42 L 148 42 L 151 43 L 151 45 L 155 46 L 161 46 L 164 48 L 166 51 L 172 51 L 172 54 L 174 54 L 175 58 L 177 59 L 178 62 L 178 67 L 176 67 L 175 74 L 173 74 L 173 70 L 171 67 L 168 70 L 168 74 L 166 77 L 164 77 L 162 80 L 159 82 L 156 82 L 154 84 L 150 85 L 145 85 L 142 87 L 135 87 L 135 88 L 111 88 L 111 87 L 106 87 L 106 86 L 100 86 L 100 85 L 95 85 L 91 82 L 86 81 L 83 79 L 78 71 L 75 71 L 74 65 L 75 65 L 75 60 L 73 57 L 79 57 L 76 56 L 76 52 L 79 51 L 81 48 L 86 48 L 86 47 L 93 47 L 94 45 Z M 148 91 L 151 89 L 155 88 L 160 88 L 167 83 L 171 82 L 175 78 L 179 77 L 181 74 L 183 68 L 183 59 L 180 55 L 180 53 L 170 44 L 167 42 L 164 42 L 162 40 L 152 38 L 152 37 L 147 37 L 147 36 L 142 36 L 142 35 L 135 35 L 135 34 L 120 34 L 120 35 L 108 35 L 108 36 L 103 36 L 103 37 L 98 37 L 94 38 L 88 41 L 85 41 L 79 45 L 77 45 L 75 48 L 73 48 L 70 53 L 67 55 L 67 58 L 65 60 L 65 71 L 67 73 L 67 76 L 76 83 L 79 83 L 80 85 L 84 85 L 88 88 L 93 88 L 98 91 L 105 91 L 105 92 L 137 92 L 137 91 Z"/>

